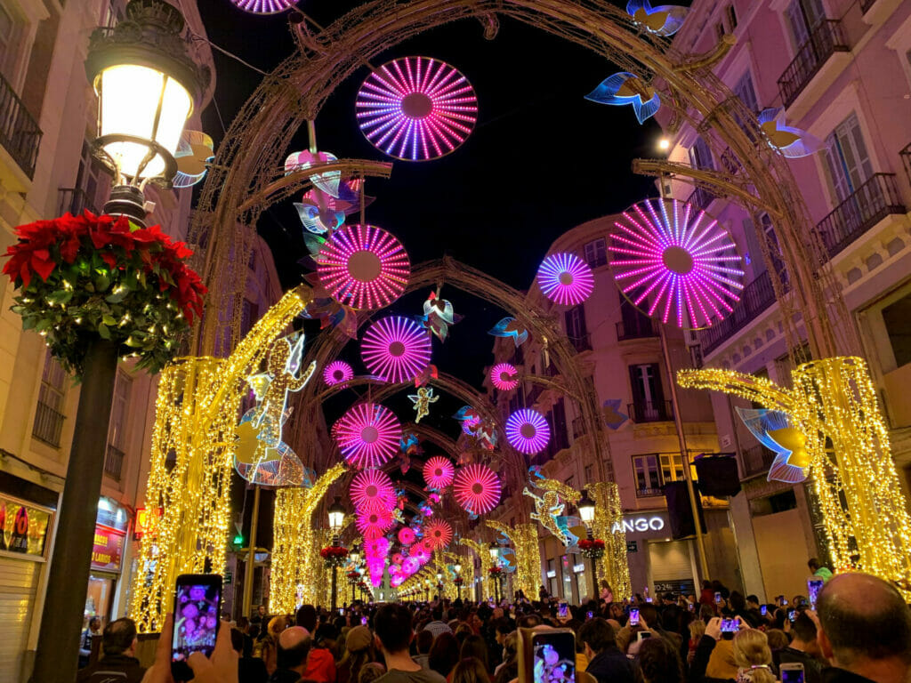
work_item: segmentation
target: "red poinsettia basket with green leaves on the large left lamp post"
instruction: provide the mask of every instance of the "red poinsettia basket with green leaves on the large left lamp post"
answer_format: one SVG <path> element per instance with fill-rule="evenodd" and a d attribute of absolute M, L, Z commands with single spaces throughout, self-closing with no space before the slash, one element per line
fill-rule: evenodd
<path fill-rule="evenodd" d="M 46 337 L 67 369 L 82 373 L 95 339 L 118 342 L 118 354 L 158 372 L 179 337 L 202 313 L 206 287 L 190 270 L 192 255 L 159 226 L 139 228 L 125 216 L 66 215 L 19 226 L 3 271 L 19 293 L 13 311 L 25 330 Z"/>

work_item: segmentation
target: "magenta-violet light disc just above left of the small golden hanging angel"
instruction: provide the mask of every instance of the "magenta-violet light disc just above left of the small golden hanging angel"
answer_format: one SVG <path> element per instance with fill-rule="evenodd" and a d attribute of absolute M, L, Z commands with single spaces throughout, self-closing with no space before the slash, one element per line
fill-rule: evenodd
<path fill-rule="evenodd" d="M 430 332 L 408 318 L 374 322 L 361 342 L 364 364 L 386 382 L 414 380 L 430 364 L 430 352 Z"/>

